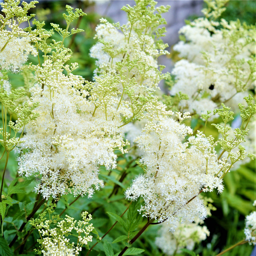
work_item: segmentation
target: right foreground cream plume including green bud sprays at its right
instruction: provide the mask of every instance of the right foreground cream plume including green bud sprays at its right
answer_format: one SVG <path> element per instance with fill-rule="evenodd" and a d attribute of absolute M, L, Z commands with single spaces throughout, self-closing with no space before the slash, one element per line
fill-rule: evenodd
<path fill-rule="evenodd" d="M 234 113 L 223 103 L 222 108 L 214 110 L 224 122 L 224 125 L 214 124 L 222 135 L 217 141 L 199 131 L 196 136 L 188 137 L 192 129 L 181 122 L 189 113 L 183 116 L 176 113 L 180 122 L 162 115 L 145 125 L 135 140 L 143 152 L 140 166 L 144 174 L 136 177 L 125 191 L 126 198 L 144 199 L 140 208 L 143 216 L 158 222 L 166 221 L 170 231 L 174 231 L 180 221 L 203 220 L 207 216 L 207 209 L 198 195 L 214 188 L 222 192 L 222 178 L 247 154 L 240 144 L 245 141 L 246 127 L 255 115 L 256 105 L 251 95 L 244 99 L 248 107 L 239 105 L 243 124 L 241 129 L 235 129 L 234 136 L 229 134 L 227 125 L 234 119 Z M 217 144 L 222 149 L 220 156 L 215 151 Z M 226 157 L 224 153 L 227 153 Z M 251 153 L 247 156 L 254 157 Z"/>

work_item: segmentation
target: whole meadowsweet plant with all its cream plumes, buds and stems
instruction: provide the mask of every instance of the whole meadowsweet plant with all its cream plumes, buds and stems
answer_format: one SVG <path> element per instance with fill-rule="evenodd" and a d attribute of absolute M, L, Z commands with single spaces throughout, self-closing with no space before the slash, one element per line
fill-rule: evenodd
<path fill-rule="evenodd" d="M 156 2 L 151 0 L 135 1 L 135 6 L 126 5 L 122 8 L 127 13 L 127 24 L 121 26 L 100 19 L 100 25 L 96 28 L 96 43 L 90 52 L 91 57 L 96 58 L 97 68 L 93 81 L 86 81 L 82 76 L 75 75 L 78 63 L 70 62 L 72 51 L 65 47 L 67 37 L 83 31 L 79 28 L 70 29 L 71 23 L 86 14 L 81 9 L 73 11 L 67 5 L 68 14 L 63 14 L 66 28 L 51 23 L 52 29 L 47 30 L 44 29 L 44 22 L 33 20 L 30 23 L 33 14 L 27 16 L 28 10 L 34 8 L 36 3 L 23 2 L 23 7 L 19 6 L 19 1 L 1 3 L 5 14 L 0 16 L 1 144 L 6 153 L 6 162 L 1 183 L 0 212 L 2 235 L 5 234 L 9 247 L 17 244 L 20 237 L 17 248 L 20 247 L 19 251 L 23 252 L 31 234 L 26 223 L 31 219 L 30 224 L 38 229 L 40 235 L 37 240 L 40 250 L 36 252 L 43 255 L 78 255 L 83 245 L 86 245 L 86 255 L 89 255 L 116 222 L 124 227 L 126 235 L 116 237 L 113 243 L 127 242 L 123 249 L 120 249 L 122 245 L 118 247 L 116 255 L 143 252 L 140 248 L 129 247 L 150 224 L 162 222 L 162 234 L 174 232 L 173 237 L 167 239 L 171 244 L 174 243 L 171 249 L 163 246 L 161 237 L 156 239 L 164 253 L 175 254 L 183 247 L 193 249 L 195 243 L 209 235 L 207 228 L 198 224 L 202 224 L 209 215 L 209 209 L 214 208 L 205 203 L 211 199 L 204 199 L 202 192 L 211 192 L 217 188 L 221 193 L 224 189 L 223 178 L 233 164 L 247 156 L 254 158 L 254 152 L 246 152 L 242 144 L 246 141 L 247 128 L 256 110 L 254 98 L 250 94 L 248 97 L 244 95 L 255 86 L 255 29 L 241 25 L 239 21 L 229 24 L 225 20 L 220 23 L 214 21 L 224 11 L 225 2 L 209 2 L 208 9 L 204 9 L 206 18 L 197 19 L 182 28 L 181 33 L 186 37 L 186 42 L 175 46 L 180 56 L 187 60 L 180 60 L 175 65 L 173 74 L 176 75 L 176 82 L 171 93 L 180 90 L 188 92 L 186 81 L 190 81 L 190 91 L 193 93 L 187 96 L 180 93 L 180 102 L 172 101 L 176 103 L 168 106 L 170 110 L 167 110 L 161 101 L 162 97 L 159 99 L 156 94 L 159 94 L 160 80 L 171 78 L 170 74 L 162 73 L 164 66 L 159 65 L 157 59 L 168 53 L 165 50 L 168 45 L 160 39 L 164 36 L 165 28 L 159 26 L 166 23 L 161 14 L 167 12 L 170 6 L 156 7 Z M 21 29 L 20 24 L 25 21 L 29 26 Z M 221 29 L 216 28 L 219 25 L 222 25 Z M 54 33 L 60 36 L 60 41 L 56 40 Z M 55 39 L 51 39 L 53 35 Z M 202 37 L 200 43 L 195 35 Z M 37 64 L 25 65 L 29 54 L 38 57 Z M 221 67 L 216 63 L 222 63 Z M 184 67 L 189 69 L 186 74 L 182 73 Z M 32 77 L 25 87 L 29 87 L 28 92 L 11 89 L 9 70 L 23 71 Z M 191 76 L 194 79 L 192 82 Z M 30 94 L 30 98 L 20 103 L 25 93 Z M 246 107 L 239 103 L 238 108 L 234 108 L 231 104 L 234 111 L 240 110 L 242 120 L 240 128 L 231 133 L 230 122 L 234 119 L 234 112 L 225 104 L 240 94 L 244 97 Z M 191 107 L 191 102 L 196 102 L 199 107 Z M 209 108 L 205 108 L 205 102 L 211 103 L 207 103 Z M 202 115 L 205 120 L 220 116 L 222 123 L 212 124 L 217 129 L 218 138 L 206 136 L 205 130 L 193 131 L 186 123 L 191 118 L 190 113 L 180 112 L 189 110 L 193 115 L 201 115 L 202 108 L 209 110 Z M 214 116 L 211 116 L 210 110 Z M 12 115 L 15 115 L 15 122 L 12 121 Z M 130 141 L 130 145 L 126 138 L 134 137 L 131 133 L 135 127 L 141 132 Z M 29 181 L 19 183 L 16 178 L 8 189 L 4 189 L 8 157 L 14 148 L 19 153 L 17 173 L 22 177 L 34 177 L 37 182 L 34 191 L 38 195 L 30 210 L 25 203 L 23 205 L 13 199 L 13 194 L 22 193 L 20 188 L 26 187 Z M 130 203 L 124 211 L 130 207 L 127 221 L 121 218 L 124 213 L 120 217 L 108 212 L 116 222 L 100 237 L 97 231 L 93 231 L 92 224 L 88 225 L 92 220 L 90 214 L 86 218 L 88 212 L 82 213 L 82 221 L 77 222 L 68 215 L 61 220 L 60 215 L 80 196 L 87 195 L 93 200 L 93 194 L 99 193 L 97 190 L 105 189 L 106 180 L 102 180 L 104 176 L 100 176 L 100 172 L 103 167 L 107 171 L 118 170 L 118 157 L 122 155 L 132 159 L 126 169 L 137 159 L 136 165 L 140 166 L 141 171 L 138 176 L 133 175 L 129 187 L 122 184 L 125 172 L 119 181 L 109 172 L 109 177 L 115 180 L 116 185 L 125 188 L 126 199 L 138 200 Z M 109 197 L 117 193 L 116 185 Z M 51 217 L 56 204 L 61 204 L 61 198 L 68 194 L 77 198 L 59 215 Z M 50 203 L 49 208 L 45 209 L 47 204 L 44 202 L 50 198 L 56 204 Z M 13 204 L 24 208 L 26 217 L 22 224 L 19 223 L 17 234 L 10 239 L 6 237 L 8 232 L 4 233 L 7 227 L 4 219 L 8 218 L 8 209 Z M 38 218 L 32 219 L 43 204 L 43 212 Z M 49 219 L 45 217 L 46 212 L 49 213 Z M 140 226 L 142 216 L 147 217 L 143 227 Z M 254 243 L 252 236 L 255 227 L 251 232 L 250 216 L 246 217 L 246 241 Z M 24 232 L 25 226 L 27 229 Z M 71 243 L 72 239 L 69 240 L 67 236 L 71 235 L 73 229 L 78 235 L 77 242 Z M 187 234 L 182 229 L 188 230 Z M 22 231 L 23 235 L 20 235 Z M 98 241 L 90 247 L 91 231 L 97 235 Z M 81 236 L 81 233 L 85 236 Z M 5 254 L 13 254 L 6 241 L 3 242 L 6 246 L 2 250 Z M 103 250 L 106 255 L 114 255 L 108 243 L 104 243 Z"/>

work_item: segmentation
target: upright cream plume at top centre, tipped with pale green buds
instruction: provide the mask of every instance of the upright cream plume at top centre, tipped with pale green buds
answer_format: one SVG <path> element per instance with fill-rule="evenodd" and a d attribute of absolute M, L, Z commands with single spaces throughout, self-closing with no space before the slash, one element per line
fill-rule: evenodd
<path fill-rule="evenodd" d="M 168 53 L 164 50 L 168 45 L 160 40 L 165 28 L 157 27 L 166 23 L 161 14 L 170 6 L 155 8 L 154 1 L 135 2 L 133 7 L 122 8 L 128 16 L 127 24 L 120 26 L 100 20 L 95 35 L 97 43 L 90 52 L 98 66 L 94 71 L 95 85 L 98 87 L 109 77 L 115 79 L 115 88 L 111 89 L 117 96 L 117 114 L 124 117 L 125 124 L 134 118 L 148 118 L 145 112 L 151 112 L 150 117 L 161 112 L 153 92 L 159 81 L 169 76 L 162 74 L 164 66 L 157 63 L 159 56 Z"/>

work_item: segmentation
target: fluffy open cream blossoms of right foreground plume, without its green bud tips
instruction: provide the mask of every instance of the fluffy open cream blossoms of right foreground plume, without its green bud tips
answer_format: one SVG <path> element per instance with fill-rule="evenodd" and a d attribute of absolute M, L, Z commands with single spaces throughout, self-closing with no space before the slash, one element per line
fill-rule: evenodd
<path fill-rule="evenodd" d="M 192 222 L 206 217 L 203 201 L 194 198 L 201 189 L 223 190 L 220 176 L 225 168 L 214 150 L 216 143 L 201 132 L 183 143 L 191 133 L 190 127 L 165 117 L 158 124 L 146 124 L 135 140 L 144 152 L 140 164 L 145 173 L 133 180 L 126 198 L 143 197 L 140 212 L 159 222 L 166 220 L 170 230 L 181 218 Z"/>

